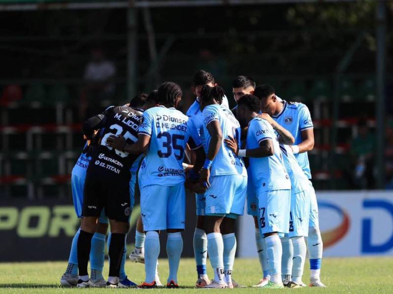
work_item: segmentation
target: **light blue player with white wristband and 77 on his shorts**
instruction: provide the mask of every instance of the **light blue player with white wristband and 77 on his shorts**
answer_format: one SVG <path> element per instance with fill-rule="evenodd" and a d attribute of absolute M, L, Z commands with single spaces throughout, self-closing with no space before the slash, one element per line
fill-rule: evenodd
<path fill-rule="evenodd" d="M 265 237 L 270 281 L 262 288 L 283 288 L 281 281 L 282 247 L 279 234 L 289 232 L 291 183 L 286 172 L 277 136 L 267 121 L 258 118 L 259 99 L 245 95 L 238 100 L 237 117 L 248 124 L 247 149 L 239 149 L 236 140 L 226 139 L 232 151 L 249 157 L 249 177 L 258 199 L 260 232 Z"/>

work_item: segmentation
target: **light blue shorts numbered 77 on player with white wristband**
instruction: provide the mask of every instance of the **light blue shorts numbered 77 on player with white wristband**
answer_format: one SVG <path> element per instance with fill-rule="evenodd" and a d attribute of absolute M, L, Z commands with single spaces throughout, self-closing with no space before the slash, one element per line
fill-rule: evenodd
<path fill-rule="evenodd" d="M 261 234 L 289 233 L 291 190 L 258 192 L 259 231 Z"/>

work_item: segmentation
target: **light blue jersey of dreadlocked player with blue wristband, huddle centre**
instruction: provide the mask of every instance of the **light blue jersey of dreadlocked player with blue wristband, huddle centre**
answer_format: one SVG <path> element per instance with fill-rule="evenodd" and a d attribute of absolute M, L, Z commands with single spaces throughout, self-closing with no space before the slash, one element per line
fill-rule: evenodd
<path fill-rule="evenodd" d="M 205 136 L 204 149 L 207 154 L 211 136 L 207 130 L 207 125 L 213 121 L 218 121 L 223 132 L 223 138 L 232 137 L 240 143 L 240 124 L 232 112 L 219 104 L 208 105 L 203 109 L 203 132 Z M 247 176 L 244 162 L 237 157 L 226 146 L 224 140 L 221 142 L 221 148 L 213 160 L 210 170 L 210 176 L 240 174 Z"/>

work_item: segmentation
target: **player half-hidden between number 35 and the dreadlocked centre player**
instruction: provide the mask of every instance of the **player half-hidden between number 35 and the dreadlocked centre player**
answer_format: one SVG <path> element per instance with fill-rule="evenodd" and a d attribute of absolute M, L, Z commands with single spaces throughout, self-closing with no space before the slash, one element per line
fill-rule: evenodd
<path fill-rule="evenodd" d="M 199 100 L 200 92 L 204 85 L 210 87 L 217 86 L 214 77 L 211 73 L 200 70 L 194 75 L 192 90 L 196 95 L 196 99 L 187 111 L 189 120 L 193 122 L 196 127 L 196 132 L 200 137 L 200 141 L 205 140 L 203 133 L 203 115 L 200 110 Z M 222 105 L 229 109 L 228 99 L 224 96 Z M 198 175 L 191 173 L 189 176 L 192 180 L 197 180 Z M 210 283 L 210 280 L 206 273 L 206 259 L 207 259 L 207 239 L 204 230 L 204 215 L 205 215 L 205 196 L 204 194 L 195 194 L 197 202 L 197 225 L 194 232 L 194 256 L 197 264 L 197 288 L 202 288 Z"/>

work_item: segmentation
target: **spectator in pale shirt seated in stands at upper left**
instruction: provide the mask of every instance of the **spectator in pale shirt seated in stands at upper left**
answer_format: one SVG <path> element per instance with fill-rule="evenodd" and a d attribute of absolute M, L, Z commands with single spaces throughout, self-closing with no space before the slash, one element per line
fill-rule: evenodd
<path fill-rule="evenodd" d="M 114 76 L 116 67 L 112 61 L 105 58 L 102 49 L 91 50 L 91 60 L 84 70 L 85 87 L 82 91 L 81 118 L 86 115 L 88 102 L 110 100 L 115 91 Z"/>

